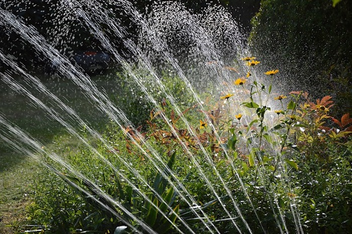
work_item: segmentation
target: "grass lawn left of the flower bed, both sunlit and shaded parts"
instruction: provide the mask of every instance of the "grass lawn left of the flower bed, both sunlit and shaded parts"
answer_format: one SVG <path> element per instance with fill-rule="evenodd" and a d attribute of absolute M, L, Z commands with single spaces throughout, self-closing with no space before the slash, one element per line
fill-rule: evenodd
<path fill-rule="evenodd" d="M 118 93 L 115 71 L 97 75 L 92 80 L 100 90 L 108 95 Z M 107 118 L 82 95 L 82 91 L 67 79 L 38 75 L 42 83 L 66 105 L 73 108 L 84 120 L 95 129 L 105 128 Z M 24 84 L 22 77 L 16 81 Z M 33 95 L 50 106 L 44 95 L 30 89 Z M 14 125 L 28 132 L 42 145 L 54 150 L 53 139 L 59 138 L 71 149 L 78 144 L 65 129 L 52 120 L 43 110 L 34 106 L 30 100 L 15 93 L 7 85 L 0 83 L 0 112 Z M 26 230 L 26 206 L 31 202 L 31 184 L 40 172 L 40 165 L 28 155 L 15 152 L 0 140 L 0 233 L 19 233 Z"/>

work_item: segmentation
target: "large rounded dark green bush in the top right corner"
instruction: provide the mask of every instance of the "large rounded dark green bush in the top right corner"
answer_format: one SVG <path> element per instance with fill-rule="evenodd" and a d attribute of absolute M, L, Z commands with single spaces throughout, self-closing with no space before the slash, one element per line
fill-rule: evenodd
<path fill-rule="evenodd" d="M 332 7 L 329 0 L 263 0 L 252 25 L 253 54 L 267 68 L 280 66 L 283 88 L 307 90 L 314 97 L 333 95 L 339 107 L 351 112 L 350 1 Z"/>

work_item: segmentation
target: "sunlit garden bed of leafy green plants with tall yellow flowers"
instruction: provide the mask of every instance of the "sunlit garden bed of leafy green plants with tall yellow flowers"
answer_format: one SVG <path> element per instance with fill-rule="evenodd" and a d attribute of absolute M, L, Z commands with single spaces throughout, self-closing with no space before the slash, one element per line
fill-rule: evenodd
<path fill-rule="evenodd" d="M 253 72 L 260 65 L 251 59 L 244 58 Z M 56 152 L 73 170 L 43 153 L 50 170 L 36 181 L 29 219 L 53 233 L 111 233 L 126 222 L 132 226 L 124 230 L 132 233 L 132 227 L 144 229 L 138 220 L 158 233 L 188 233 L 188 228 L 208 233 L 183 198 L 182 183 L 221 233 L 235 228 L 224 207 L 233 217 L 240 211 L 253 233 L 297 228 L 306 233 L 348 233 L 352 118 L 328 116 L 333 108 L 330 96 L 316 101 L 304 92 L 273 96 L 278 73 L 268 71 L 266 84 L 252 75 L 240 79 L 235 85 L 246 91 L 237 93 L 242 103 L 225 93 L 205 97 L 205 109 L 188 105 L 192 100 L 183 99 L 187 87 L 182 82 L 174 86 L 178 78 L 164 75 L 162 82 L 172 89 L 177 105 L 159 92 L 151 93 L 160 103 L 150 112 L 140 109 L 140 102 L 129 103 L 131 112 L 148 112 L 148 121 L 137 129 L 112 122 L 104 134 L 108 145 L 90 142 L 98 151 L 86 145 L 72 151 L 58 139 Z M 267 106 L 273 99 L 281 110 L 273 112 Z M 243 220 L 235 219 L 246 233 Z"/>

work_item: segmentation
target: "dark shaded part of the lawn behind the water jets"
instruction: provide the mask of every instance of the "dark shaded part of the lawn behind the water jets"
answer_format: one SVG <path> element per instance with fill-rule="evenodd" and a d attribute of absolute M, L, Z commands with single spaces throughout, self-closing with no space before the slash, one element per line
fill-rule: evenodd
<path fill-rule="evenodd" d="M 92 100 L 85 98 L 84 92 L 79 87 L 62 77 L 43 74 L 36 76 L 51 93 L 72 108 L 87 125 L 97 131 L 105 130 L 109 121 L 106 114 L 98 110 Z M 60 107 L 54 104 L 50 98 L 26 84 L 22 77 L 15 77 L 15 80 L 50 109 L 57 111 L 76 131 L 82 128 L 78 123 L 70 120 L 67 112 L 60 110 Z M 120 81 L 118 81 L 114 70 L 93 76 L 92 80 L 98 89 L 108 97 L 119 94 Z M 55 136 L 67 134 L 67 130 L 46 111 L 39 108 L 28 97 L 16 93 L 2 82 L 0 82 L 0 112 L 7 121 L 27 132 L 42 145 L 51 144 Z M 21 152 L 15 153 L 14 149 L 0 140 L 0 173 L 15 167 L 26 158 L 26 155 Z"/>

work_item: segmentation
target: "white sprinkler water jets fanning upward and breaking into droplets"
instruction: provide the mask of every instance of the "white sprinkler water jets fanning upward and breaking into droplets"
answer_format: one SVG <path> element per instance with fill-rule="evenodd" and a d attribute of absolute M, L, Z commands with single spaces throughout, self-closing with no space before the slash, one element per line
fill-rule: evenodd
<path fill-rule="evenodd" d="M 240 229 L 240 226 L 237 223 L 238 221 L 236 220 L 237 217 L 239 217 L 239 219 L 243 222 L 244 226 L 246 227 L 246 231 L 248 231 L 249 233 L 253 233 L 252 228 L 248 225 L 246 221 L 246 217 L 242 215 L 236 197 L 233 195 L 232 191 L 227 186 L 228 182 L 218 172 L 216 165 L 214 164 L 211 158 L 211 155 L 209 155 L 207 150 L 203 147 L 202 143 L 198 139 L 196 132 L 190 126 L 186 117 L 183 115 L 183 112 L 180 109 L 177 100 L 175 100 L 172 93 L 163 84 L 162 77 L 156 69 L 156 67 L 158 67 L 159 69 L 161 67 L 162 69 L 162 67 L 164 66 L 166 67 L 166 69 L 170 69 L 172 70 L 172 72 L 177 74 L 182 80 L 182 82 L 185 84 L 185 95 L 189 95 L 190 97 L 192 97 L 192 99 L 195 100 L 196 104 L 199 106 L 200 110 L 202 110 L 203 112 L 205 112 L 205 107 L 203 106 L 202 99 L 198 96 L 196 91 L 197 88 L 201 87 L 197 84 L 200 84 L 202 82 L 204 82 L 205 84 L 211 83 L 215 87 L 214 94 L 216 95 L 221 92 L 235 93 L 235 90 L 232 90 L 232 88 L 229 88 L 229 86 L 225 85 L 226 83 L 230 83 L 233 80 L 233 73 L 231 74 L 230 71 L 224 69 L 224 67 L 232 59 L 238 59 L 240 57 L 248 55 L 249 51 L 246 49 L 243 43 L 244 40 L 243 38 L 241 38 L 241 34 L 239 33 L 236 24 L 231 21 L 229 15 L 226 15 L 226 17 L 222 21 L 220 21 L 218 15 L 219 9 L 209 8 L 206 12 L 209 17 L 202 18 L 201 16 L 189 13 L 187 9 L 177 3 L 166 2 L 164 4 L 154 6 L 154 10 L 150 14 L 149 18 L 146 18 L 145 16 L 141 15 L 130 2 L 122 0 L 114 1 L 115 4 L 125 9 L 132 22 L 137 24 L 138 27 L 141 28 L 140 35 L 138 37 L 138 42 L 135 43 L 130 39 L 126 39 L 127 32 L 124 30 L 123 27 L 121 27 L 119 22 L 109 16 L 111 12 L 109 12 L 109 10 L 107 9 L 104 9 L 99 2 L 94 0 L 65 0 L 62 2 L 67 7 L 66 10 L 68 12 L 82 19 L 82 23 L 86 25 L 87 28 L 89 28 L 91 34 L 94 35 L 94 37 L 102 43 L 102 46 L 105 50 L 107 50 L 110 54 L 113 55 L 114 61 L 118 63 L 127 74 L 129 74 L 136 87 L 138 87 L 138 89 L 142 91 L 142 93 L 145 95 L 145 99 L 148 100 L 150 105 L 156 111 L 159 111 L 161 113 L 160 116 L 168 124 L 170 130 L 172 131 L 172 134 L 178 139 L 180 145 L 185 150 L 188 157 L 192 160 L 192 163 L 197 168 L 202 179 L 206 182 L 207 187 L 212 191 L 214 197 L 217 199 L 219 204 L 221 204 L 224 213 L 227 216 L 225 219 L 230 220 L 234 228 L 239 233 L 242 233 L 242 231 L 244 232 L 244 230 Z M 89 11 L 89 14 L 87 14 L 87 11 Z M 224 12 L 222 12 L 220 9 L 220 13 Z M 180 198 L 185 201 L 189 205 L 189 207 L 200 206 L 196 199 L 187 190 L 185 185 L 178 179 L 177 175 L 174 175 L 174 173 L 163 162 L 159 153 L 146 141 L 146 139 L 140 134 L 140 132 L 133 126 L 132 122 L 126 117 L 127 115 L 118 106 L 116 106 L 107 97 L 107 95 L 105 95 L 102 91 L 97 88 L 96 84 L 92 81 L 91 77 L 82 73 L 79 68 L 72 65 L 65 56 L 62 56 L 41 35 L 39 35 L 35 28 L 26 25 L 24 22 L 17 19 L 14 15 L 2 9 L 0 9 L 0 16 L 2 19 L 0 20 L 0 25 L 2 25 L 3 27 L 8 27 L 10 30 L 18 33 L 23 38 L 23 40 L 32 44 L 35 50 L 39 53 L 44 54 L 49 61 L 55 61 L 55 63 L 58 65 L 58 73 L 66 77 L 74 85 L 79 87 L 82 92 L 82 95 L 84 95 L 86 99 L 90 100 L 91 103 L 94 104 L 94 106 L 97 108 L 97 110 L 106 113 L 106 115 L 110 119 L 112 119 L 121 130 L 125 130 L 126 126 L 130 126 L 130 129 L 133 132 L 133 136 L 129 132 L 127 132 L 127 136 L 139 148 L 139 150 L 145 155 L 145 157 L 151 162 L 153 162 L 155 170 L 168 181 L 170 186 L 173 187 L 173 189 L 179 194 Z M 133 55 L 133 59 L 137 61 L 138 67 L 148 73 L 148 77 L 149 79 L 151 79 L 152 84 L 157 86 L 162 95 L 164 95 L 166 99 L 170 102 L 173 110 L 180 116 L 180 120 L 183 121 L 188 132 L 190 132 L 190 134 L 198 140 L 197 145 L 203 152 L 206 162 L 199 162 L 194 157 L 192 152 L 188 149 L 187 145 L 182 140 L 179 133 L 175 131 L 175 129 L 169 122 L 169 117 L 163 114 L 158 100 L 155 99 L 155 94 L 151 93 L 149 88 L 145 86 L 145 77 L 136 72 L 133 64 L 127 61 L 124 56 L 120 54 L 119 50 L 117 49 L 118 46 L 114 44 L 114 41 L 110 40 L 109 36 L 104 33 L 104 30 L 102 28 L 100 28 L 99 25 L 102 23 L 106 23 L 110 26 L 111 33 L 116 38 L 118 38 L 120 42 L 124 44 L 128 52 Z M 217 27 L 217 25 L 221 23 L 225 25 L 225 28 L 222 30 Z M 167 26 L 166 30 L 163 30 L 163 27 L 165 27 L 165 25 Z M 181 32 L 181 34 L 178 35 L 178 37 L 171 38 L 171 33 L 175 29 L 175 27 L 181 27 L 183 31 Z M 225 33 L 226 30 L 228 30 L 227 33 Z M 222 36 L 223 38 L 225 38 L 225 40 L 217 40 L 217 37 L 219 36 Z M 172 46 L 173 43 L 178 43 L 178 40 L 180 39 L 185 39 L 185 41 L 183 41 L 182 43 L 188 45 L 188 47 L 186 48 L 187 50 L 183 50 L 182 48 L 177 50 L 174 45 Z M 190 40 L 192 40 L 191 44 L 189 44 Z M 223 44 L 221 44 L 221 42 Z M 89 132 L 95 139 L 98 139 L 107 148 L 113 149 L 113 146 L 109 142 L 107 142 L 107 140 L 105 140 L 104 137 L 97 130 L 91 128 L 90 124 L 84 121 L 72 108 L 64 104 L 62 100 L 60 100 L 57 96 L 50 92 L 50 90 L 47 89 L 37 77 L 30 75 L 23 68 L 21 68 L 21 65 L 16 63 L 16 58 L 6 55 L 2 51 L 0 51 L 0 58 L 5 64 L 11 67 L 10 71 L 0 73 L 1 80 L 2 82 L 4 82 L 4 84 L 6 84 L 15 92 L 27 97 L 29 100 L 31 100 L 33 106 L 42 109 L 45 113 L 47 113 L 50 118 L 59 122 L 63 127 L 65 127 L 65 129 L 70 134 L 77 137 L 81 142 L 83 142 L 83 144 L 89 147 L 90 150 L 94 152 L 96 157 L 102 160 L 102 162 L 109 166 L 109 168 L 111 168 L 117 175 L 119 175 L 119 177 L 124 179 L 132 188 L 134 188 L 141 197 L 143 197 L 146 201 L 149 201 L 153 205 L 153 202 L 148 198 L 146 194 L 138 190 L 138 188 L 134 185 L 132 181 L 126 178 L 122 172 L 117 170 L 104 157 L 104 155 L 99 153 L 98 150 L 96 150 L 95 147 L 89 143 L 89 140 L 87 140 L 85 136 L 82 136 L 79 133 L 80 128 L 85 128 L 87 129 L 87 132 Z M 179 62 L 182 58 L 185 58 L 183 60 L 186 61 L 185 63 L 192 63 L 195 68 L 185 68 L 182 62 Z M 156 61 L 157 65 L 155 65 Z M 238 69 L 240 69 L 241 67 L 242 65 L 239 65 Z M 197 71 L 200 71 L 200 77 L 192 77 L 192 75 L 197 73 Z M 24 77 L 27 87 L 13 79 L 12 76 L 14 75 L 14 73 L 20 74 L 22 77 Z M 32 94 L 32 90 L 36 90 L 37 92 L 45 95 L 51 101 L 51 105 L 53 105 L 53 107 L 48 106 L 47 104 L 39 100 L 35 95 Z M 240 102 L 241 99 L 239 97 L 236 100 L 235 104 L 230 107 L 231 112 L 243 112 L 243 109 L 235 110 L 235 108 L 242 108 L 238 105 Z M 97 200 L 102 205 L 102 207 L 109 209 L 126 225 L 128 225 L 132 229 L 135 229 L 135 227 L 130 223 L 130 221 L 121 217 L 116 211 L 110 208 L 110 205 L 119 207 L 121 210 L 126 212 L 127 215 L 131 219 L 136 220 L 137 223 L 145 231 L 149 233 L 156 233 L 143 220 L 138 219 L 138 217 L 126 210 L 122 204 L 114 200 L 109 194 L 106 194 L 104 191 L 102 191 L 98 185 L 87 179 L 85 175 L 79 173 L 71 165 L 67 164 L 61 157 L 56 154 L 46 152 L 42 149 L 41 143 L 31 138 L 27 133 L 25 133 L 21 129 L 12 126 L 9 121 L 6 120 L 6 116 L 0 117 L 0 123 L 2 124 L 2 134 L 0 135 L 0 137 L 4 142 L 10 144 L 14 149 L 24 154 L 31 155 L 34 159 L 38 161 L 40 161 L 40 159 L 38 158 L 37 153 L 47 155 L 54 162 L 58 163 L 62 167 L 66 168 L 69 172 L 77 176 L 77 178 L 80 178 L 86 181 L 86 183 L 92 185 L 92 187 L 97 191 L 97 194 L 101 198 L 104 198 L 103 201 L 109 203 L 105 204 L 104 202 Z M 217 137 L 218 141 L 221 141 L 220 133 L 217 132 L 217 129 L 212 124 L 212 121 L 209 116 L 204 115 L 204 118 L 207 120 L 208 124 L 214 131 L 214 134 Z M 138 137 L 138 141 L 136 140 L 135 136 Z M 255 145 L 252 146 L 254 147 Z M 225 157 L 230 164 L 230 167 L 235 172 L 236 180 L 238 180 L 238 182 L 240 183 L 241 190 L 258 219 L 258 224 L 261 226 L 262 231 L 266 232 L 265 228 L 261 224 L 262 222 L 259 216 L 256 213 L 256 208 L 251 202 L 251 197 L 247 192 L 246 186 L 243 184 L 238 174 L 238 169 L 236 168 L 233 159 L 231 158 L 231 155 L 229 155 L 227 148 L 225 148 L 223 145 L 222 147 L 225 152 Z M 284 164 L 284 162 L 280 158 L 280 152 L 278 152 L 278 149 L 273 147 L 271 148 L 271 150 L 275 155 L 277 155 L 277 160 L 279 164 Z M 122 162 L 130 170 L 130 172 L 134 174 L 136 178 L 138 178 L 140 183 L 147 186 L 160 201 L 164 202 L 164 204 L 168 206 L 168 204 L 163 200 L 163 198 L 148 184 L 147 181 L 145 181 L 143 175 L 136 171 L 133 166 L 131 166 L 126 160 L 123 159 L 123 157 L 121 157 L 121 155 L 119 155 L 115 151 L 114 153 L 116 154 L 118 160 Z M 204 169 L 202 168 L 203 163 L 211 165 L 213 173 L 219 180 L 219 184 L 215 185 L 207 178 L 206 173 L 203 171 Z M 260 163 L 262 164 L 262 162 Z M 51 165 L 45 166 L 49 168 L 53 173 L 61 177 L 65 182 L 86 193 L 86 195 L 91 195 L 89 191 L 86 191 L 83 188 L 79 187 L 64 174 L 60 173 L 55 167 Z M 285 187 L 284 189 L 290 191 L 291 188 L 288 176 L 283 168 L 284 167 L 279 167 L 279 173 L 282 176 L 281 180 L 285 181 L 285 183 L 287 184 L 287 187 Z M 167 174 L 169 174 L 171 178 L 169 178 L 169 176 L 165 174 L 164 169 L 166 169 Z M 257 171 L 261 178 L 265 177 L 265 175 L 260 174 L 261 171 L 259 167 L 257 168 Z M 225 189 L 225 196 L 228 196 L 231 199 L 233 207 L 225 206 L 222 200 L 223 195 L 218 194 L 215 189 L 216 186 L 222 186 Z M 271 208 L 273 210 L 273 213 L 276 215 L 275 218 L 280 232 L 288 233 L 285 217 L 278 204 L 278 199 L 276 195 L 271 190 L 271 188 L 266 188 L 266 190 L 271 191 L 272 193 L 269 195 L 270 204 L 272 206 Z M 156 209 L 159 209 L 155 205 L 154 207 Z M 292 203 L 290 208 L 295 218 L 297 233 L 303 233 L 302 226 L 300 224 L 299 214 L 297 211 L 297 206 L 295 205 L 295 203 Z M 173 212 L 170 206 L 168 206 L 168 209 L 170 212 Z M 209 218 L 209 214 L 207 214 L 205 210 L 191 210 L 199 218 L 199 220 L 203 223 L 203 225 L 207 228 L 208 231 L 210 231 L 211 233 L 220 233 L 216 226 L 216 222 L 211 221 L 211 219 Z M 234 210 L 236 211 L 235 215 L 233 214 Z M 195 233 L 182 217 L 180 217 L 176 213 L 175 215 L 177 215 L 177 218 L 188 229 L 188 231 L 190 231 L 191 233 Z M 164 215 L 164 217 L 168 219 L 166 215 Z M 173 224 L 173 226 L 177 231 L 183 233 L 177 225 Z M 136 231 L 140 232 L 138 230 Z"/>

